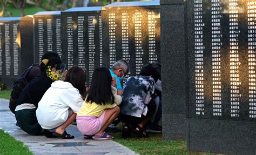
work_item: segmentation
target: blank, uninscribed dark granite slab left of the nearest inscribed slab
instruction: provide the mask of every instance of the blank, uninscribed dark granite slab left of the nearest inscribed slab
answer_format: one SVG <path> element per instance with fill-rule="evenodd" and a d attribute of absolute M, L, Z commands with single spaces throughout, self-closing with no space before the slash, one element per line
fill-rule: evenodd
<path fill-rule="evenodd" d="M 184 1 L 161 0 L 161 78 L 164 140 L 185 140 L 188 96 Z"/>

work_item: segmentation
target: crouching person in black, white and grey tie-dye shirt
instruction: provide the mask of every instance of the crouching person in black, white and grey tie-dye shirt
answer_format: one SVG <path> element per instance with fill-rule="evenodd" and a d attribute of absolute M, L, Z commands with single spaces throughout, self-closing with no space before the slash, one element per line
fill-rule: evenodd
<path fill-rule="evenodd" d="M 149 137 L 146 124 L 156 111 L 154 84 L 159 78 L 156 67 L 146 64 L 139 76 L 127 78 L 122 92 L 122 104 L 118 119 L 124 123 L 122 137 L 131 137 L 131 132 L 139 137 Z"/>

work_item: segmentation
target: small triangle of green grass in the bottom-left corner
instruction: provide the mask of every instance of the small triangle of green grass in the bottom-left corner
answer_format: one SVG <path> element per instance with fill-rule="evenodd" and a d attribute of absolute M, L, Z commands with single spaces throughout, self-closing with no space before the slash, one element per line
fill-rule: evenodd
<path fill-rule="evenodd" d="M 0 154 L 33 154 L 21 141 L 0 130 Z"/>

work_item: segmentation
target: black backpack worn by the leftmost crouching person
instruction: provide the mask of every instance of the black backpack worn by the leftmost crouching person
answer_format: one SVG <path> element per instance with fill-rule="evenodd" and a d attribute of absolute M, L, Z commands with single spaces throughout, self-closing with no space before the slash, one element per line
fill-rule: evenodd
<path fill-rule="evenodd" d="M 13 102 L 17 102 L 17 99 L 19 98 L 19 95 L 21 95 L 22 90 L 24 87 L 29 83 L 28 79 L 26 79 L 27 75 L 31 71 L 31 69 L 34 66 L 37 66 L 38 64 L 32 64 L 28 69 L 26 69 L 22 75 L 14 81 L 12 84 L 12 91 L 11 91 L 11 98 Z"/>

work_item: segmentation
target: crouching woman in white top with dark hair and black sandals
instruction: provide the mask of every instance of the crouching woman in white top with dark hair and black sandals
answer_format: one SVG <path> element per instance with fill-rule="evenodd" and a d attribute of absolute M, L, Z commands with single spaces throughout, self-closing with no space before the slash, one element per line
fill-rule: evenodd
<path fill-rule="evenodd" d="M 76 120 L 76 113 L 83 104 L 85 82 L 86 73 L 78 66 L 73 66 L 66 73 L 64 81 L 57 80 L 51 84 L 36 110 L 38 123 L 44 130 L 63 139 L 74 138 L 65 129 Z"/>

